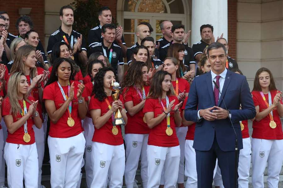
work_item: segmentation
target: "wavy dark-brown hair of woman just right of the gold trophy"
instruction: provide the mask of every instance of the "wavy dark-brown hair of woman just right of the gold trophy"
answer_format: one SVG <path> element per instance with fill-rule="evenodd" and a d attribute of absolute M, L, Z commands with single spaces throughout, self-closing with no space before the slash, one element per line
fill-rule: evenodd
<path fill-rule="evenodd" d="M 124 89 L 127 88 L 123 93 L 124 98 L 130 86 L 136 86 L 136 88 L 142 89 L 142 87 L 145 85 L 145 83 L 142 81 L 142 68 L 144 66 L 147 66 L 144 62 L 136 61 L 128 69 L 127 74 L 125 75 L 125 79 L 121 83 L 120 90 L 124 91 Z"/>

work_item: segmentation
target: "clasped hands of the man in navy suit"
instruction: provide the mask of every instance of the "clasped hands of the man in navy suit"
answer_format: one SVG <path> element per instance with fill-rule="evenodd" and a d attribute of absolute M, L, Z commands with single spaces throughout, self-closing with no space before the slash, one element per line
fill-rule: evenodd
<path fill-rule="evenodd" d="M 211 111 L 212 110 L 212 111 Z M 207 121 L 214 121 L 216 119 L 226 119 L 229 112 L 223 108 L 214 106 L 199 111 L 199 116 Z"/>

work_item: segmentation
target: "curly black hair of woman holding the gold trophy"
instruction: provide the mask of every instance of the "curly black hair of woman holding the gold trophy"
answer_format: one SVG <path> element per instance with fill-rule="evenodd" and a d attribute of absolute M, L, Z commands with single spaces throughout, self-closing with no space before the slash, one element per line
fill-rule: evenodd
<path fill-rule="evenodd" d="M 104 83 L 104 76 L 107 71 L 112 71 L 115 75 L 115 71 L 112 67 L 103 67 L 98 70 L 94 77 L 94 85 L 92 89 L 92 95 L 97 98 L 99 101 L 103 101 L 107 98 L 107 93 L 104 91 L 103 83 Z"/>

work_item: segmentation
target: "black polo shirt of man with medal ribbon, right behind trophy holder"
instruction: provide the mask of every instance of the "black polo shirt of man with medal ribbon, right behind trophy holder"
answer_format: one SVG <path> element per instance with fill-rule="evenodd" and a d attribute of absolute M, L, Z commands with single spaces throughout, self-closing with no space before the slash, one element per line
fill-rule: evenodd
<path fill-rule="evenodd" d="M 94 43 L 89 51 L 90 54 L 94 53 L 94 52 L 100 52 L 102 53 L 104 56 L 106 56 L 109 61 L 110 61 L 110 51 L 112 49 L 112 56 L 111 56 L 111 66 L 114 68 L 114 70 L 117 72 L 117 68 L 118 65 L 124 65 L 124 60 L 123 60 L 123 53 L 122 53 L 122 48 L 120 46 L 118 46 L 117 44 L 112 43 L 111 48 L 108 49 L 108 47 L 104 46 L 103 42 L 100 43 Z"/>

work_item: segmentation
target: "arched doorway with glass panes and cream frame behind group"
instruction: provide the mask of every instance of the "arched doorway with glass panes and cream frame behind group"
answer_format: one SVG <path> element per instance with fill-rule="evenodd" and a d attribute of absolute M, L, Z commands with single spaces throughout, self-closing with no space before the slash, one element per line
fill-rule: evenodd
<path fill-rule="evenodd" d="M 141 22 L 148 22 L 153 27 L 151 36 L 158 40 L 162 37 L 160 24 L 170 20 L 173 24 L 184 24 L 190 29 L 191 0 L 118 0 L 117 21 L 124 28 L 127 47 L 137 41 L 135 29 Z"/>

